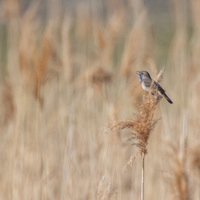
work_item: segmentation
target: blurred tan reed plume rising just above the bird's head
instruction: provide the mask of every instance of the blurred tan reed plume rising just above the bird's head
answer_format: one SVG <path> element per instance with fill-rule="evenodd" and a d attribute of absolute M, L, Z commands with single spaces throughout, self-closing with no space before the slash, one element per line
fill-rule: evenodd
<path fill-rule="evenodd" d="M 135 69 L 144 65 L 153 65 L 153 49 L 150 40 L 150 24 L 147 19 L 147 10 L 143 1 L 133 1 L 131 6 L 137 18 L 134 18 L 133 28 L 128 36 L 122 55 L 121 72 L 130 78 Z M 152 39 L 152 38 L 151 38 Z"/>

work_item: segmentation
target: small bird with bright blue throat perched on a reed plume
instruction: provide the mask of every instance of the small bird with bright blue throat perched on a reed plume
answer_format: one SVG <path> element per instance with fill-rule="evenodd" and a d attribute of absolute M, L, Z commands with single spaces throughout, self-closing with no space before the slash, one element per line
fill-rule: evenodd
<path fill-rule="evenodd" d="M 163 96 L 170 104 L 173 103 L 171 99 L 165 94 L 165 90 L 157 82 L 151 79 L 151 76 L 149 75 L 147 71 L 137 71 L 136 73 L 140 77 L 140 84 L 143 90 L 147 92 L 151 90 L 152 94 L 155 94 L 156 92 L 158 92 L 158 94 Z M 153 81 L 153 84 L 152 84 L 152 81 Z"/>

